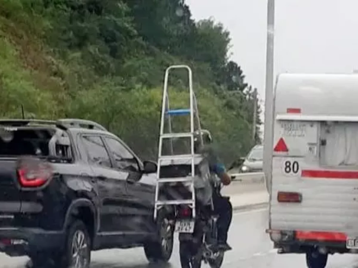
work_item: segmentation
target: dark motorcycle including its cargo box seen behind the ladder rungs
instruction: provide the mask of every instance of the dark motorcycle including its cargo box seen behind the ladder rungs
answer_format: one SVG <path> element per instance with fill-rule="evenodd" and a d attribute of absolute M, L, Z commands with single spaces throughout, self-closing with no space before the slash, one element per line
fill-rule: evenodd
<path fill-rule="evenodd" d="M 162 167 L 163 178 L 187 177 L 191 172 L 190 165 L 175 165 Z M 201 165 L 196 174 L 205 178 L 203 174 L 209 174 L 208 166 Z M 216 181 L 212 189 L 220 195 L 221 183 Z M 180 182 L 168 183 L 160 188 L 160 194 L 168 200 L 190 199 L 192 194 L 188 185 Z M 214 213 L 213 203 L 203 205 L 197 198 L 195 202 L 195 218 L 193 209 L 186 204 L 174 205 L 175 219 L 174 232 L 179 234 L 179 255 L 182 268 L 200 268 L 202 262 L 209 264 L 211 268 L 220 268 L 224 251 L 217 247 L 218 230 L 217 221 L 219 215 Z"/>

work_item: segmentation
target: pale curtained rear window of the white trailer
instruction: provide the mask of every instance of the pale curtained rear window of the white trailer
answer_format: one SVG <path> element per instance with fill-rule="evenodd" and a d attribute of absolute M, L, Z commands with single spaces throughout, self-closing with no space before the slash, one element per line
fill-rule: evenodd
<path fill-rule="evenodd" d="M 358 123 L 321 123 L 320 162 L 336 167 L 358 166 Z"/>

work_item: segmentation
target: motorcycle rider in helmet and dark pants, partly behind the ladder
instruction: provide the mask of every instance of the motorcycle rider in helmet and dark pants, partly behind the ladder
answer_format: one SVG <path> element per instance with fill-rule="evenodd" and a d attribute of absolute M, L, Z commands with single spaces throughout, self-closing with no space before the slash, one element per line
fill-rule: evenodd
<path fill-rule="evenodd" d="M 199 133 L 196 133 L 194 138 L 194 145 L 197 152 L 205 155 L 209 162 L 210 172 L 217 175 L 223 185 L 231 183 L 231 177 L 226 173 L 225 166 L 219 161 L 219 158 L 212 146 L 212 137 L 209 131 L 202 130 L 202 139 L 204 146 L 200 146 Z M 220 193 L 221 185 L 213 186 L 212 200 L 214 204 L 214 213 L 219 215 L 217 221 L 218 228 L 218 249 L 230 250 L 232 249 L 227 243 L 227 233 L 232 220 L 232 205 L 228 197 L 223 197 Z"/>

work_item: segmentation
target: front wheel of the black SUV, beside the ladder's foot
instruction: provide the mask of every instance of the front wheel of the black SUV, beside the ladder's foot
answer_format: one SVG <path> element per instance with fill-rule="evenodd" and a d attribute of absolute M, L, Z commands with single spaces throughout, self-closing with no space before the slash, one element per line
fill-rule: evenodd
<path fill-rule="evenodd" d="M 173 253 L 174 226 L 169 214 L 158 213 L 157 239 L 144 244 L 145 256 L 149 262 L 168 262 Z"/>

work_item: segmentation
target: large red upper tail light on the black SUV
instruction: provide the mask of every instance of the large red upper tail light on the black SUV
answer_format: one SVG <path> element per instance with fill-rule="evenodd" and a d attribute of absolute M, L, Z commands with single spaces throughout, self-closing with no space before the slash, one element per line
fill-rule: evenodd
<path fill-rule="evenodd" d="M 40 187 L 44 185 L 53 174 L 49 163 L 39 158 L 21 158 L 17 169 L 18 179 L 21 187 Z"/>

